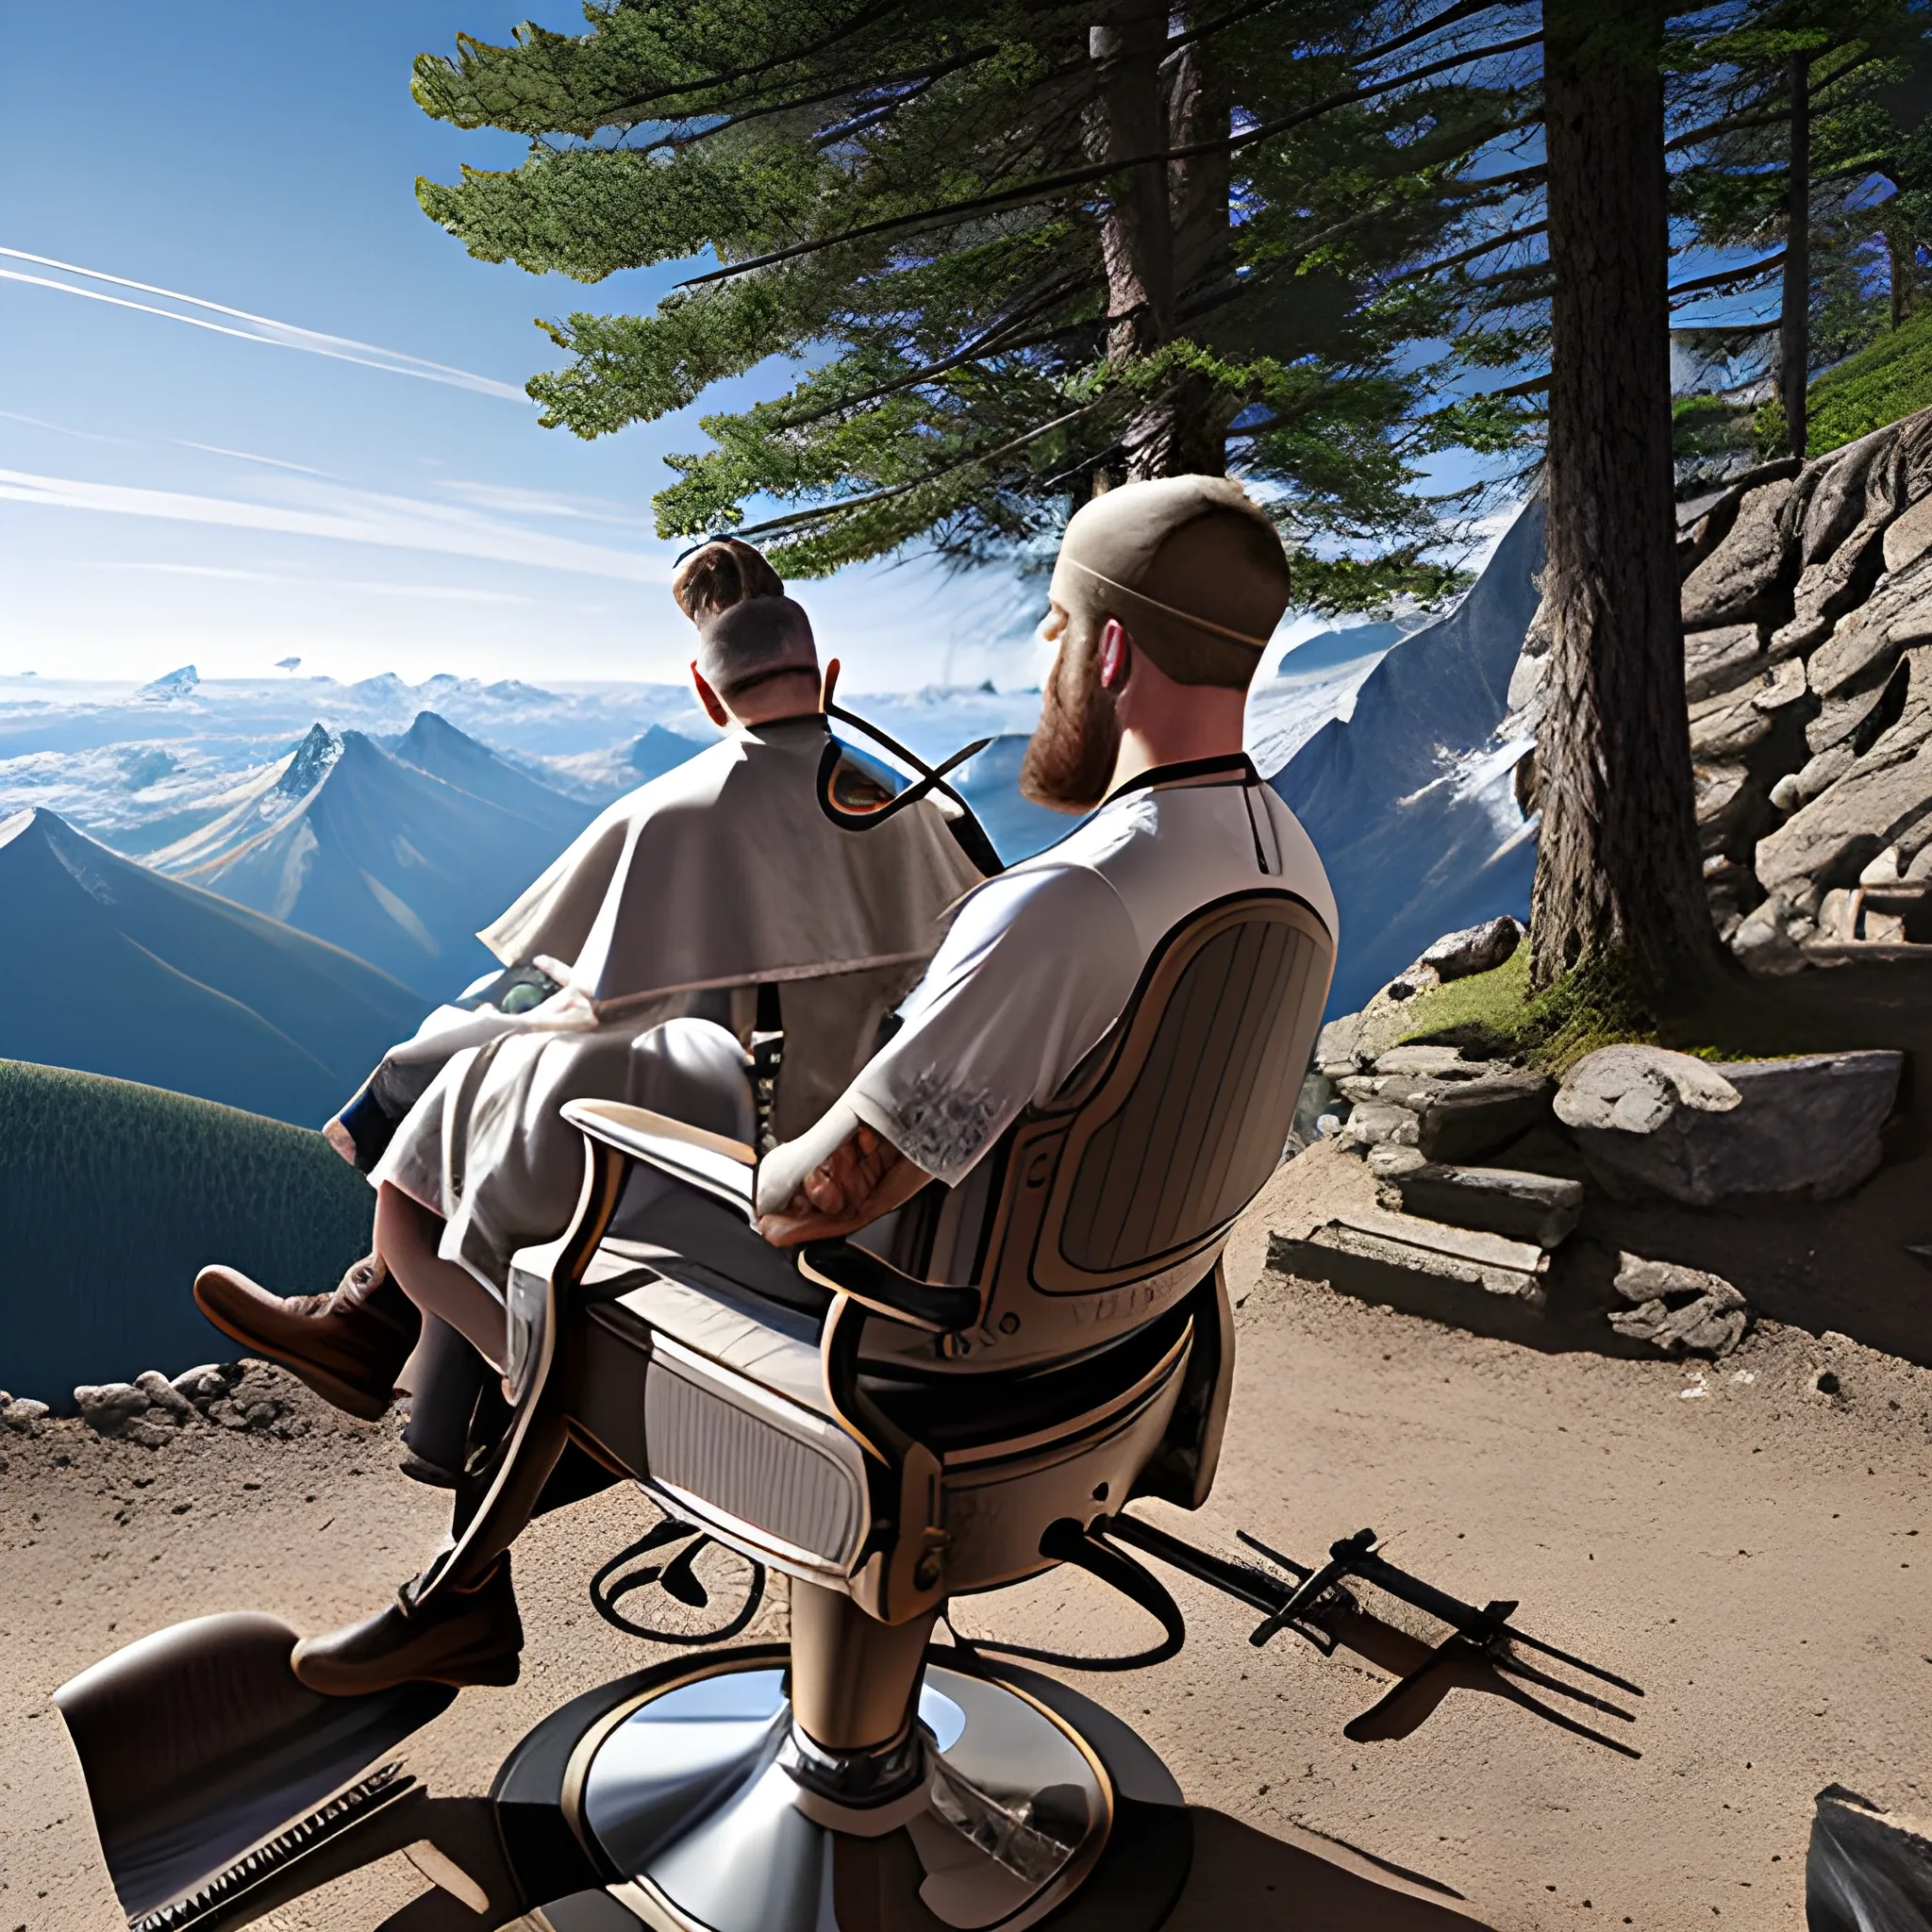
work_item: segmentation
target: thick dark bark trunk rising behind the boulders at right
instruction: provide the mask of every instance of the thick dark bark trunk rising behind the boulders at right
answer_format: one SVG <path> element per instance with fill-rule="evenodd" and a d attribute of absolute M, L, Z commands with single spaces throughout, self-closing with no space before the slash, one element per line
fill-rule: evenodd
<path fill-rule="evenodd" d="M 1671 491 L 1663 0 L 1546 0 L 1549 709 L 1530 980 L 1716 956 L 1698 867 Z"/>

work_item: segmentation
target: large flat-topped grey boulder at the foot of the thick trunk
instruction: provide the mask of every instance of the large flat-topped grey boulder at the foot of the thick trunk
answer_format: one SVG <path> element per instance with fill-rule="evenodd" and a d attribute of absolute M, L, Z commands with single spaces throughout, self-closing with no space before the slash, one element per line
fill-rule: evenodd
<path fill-rule="evenodd" d="M 1605 1047 L 1571 1068 L 1555 1109 L 1623 1200 L 1832 1200 L 1878 1167 L 1903 1065 L 1901 1053 L 1812 1053 L 1731 1061 L 1719 1074 L 1658 1047 Z"/>

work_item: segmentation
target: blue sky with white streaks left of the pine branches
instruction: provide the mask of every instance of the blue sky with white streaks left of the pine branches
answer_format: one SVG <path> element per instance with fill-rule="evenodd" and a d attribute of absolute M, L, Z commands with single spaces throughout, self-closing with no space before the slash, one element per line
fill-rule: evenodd
<path fill-rule="evenodd" d="M 487 267 L 415 205 L 419 174 L 514 166 L 524 145 L 423 116 L 412 58 L 531 14 L 582 19 L 529 0 L 0 0 L 0 672 L 682 672 L 678 547 L 649 498 L 701 433 L 672 417 L 580 442 L 522 396 L 556 357 L 531 317 L 647 309 L 676 272 L 583 288 Z M 879 566 L 802 595 L 854 688 L 1037 668 L 993 574 Z"/>

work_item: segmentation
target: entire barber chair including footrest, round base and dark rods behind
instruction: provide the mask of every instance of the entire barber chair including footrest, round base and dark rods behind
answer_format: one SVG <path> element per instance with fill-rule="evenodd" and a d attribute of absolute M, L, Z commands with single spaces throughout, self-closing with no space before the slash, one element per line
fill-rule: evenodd
<path fill-rule="evenodd" d="M 516 1747 L 487 1799 L 452 1801 L 369 1766 L 454 1692 L 317 1698 L 272 1619 L 158 1633 L 56 1698 L 129 1924 L 247 1924 L 406 1851 L 435 1889 L 390 1932 L 1151 1932 L 1192 1851 L 1153 1752 L 1012 1662 L 1045 1652 L 931 1642 L 956 1598 L 1078 1565 L 1163 1625 L 1136 1656 L 1080 1662 L 1173 1656 L 1180 1615 L 1128 1549 L 1265 1611 L 1258 1644 L 1291 1629 L 1397 1671 L 1350 1739 L 1406 1735 L 1466 1685 L 1613 1743 L 1517 1685 L 1609 1704 L 1505 1644 L 1621 1679 L 1513 1631 L 1513 1604 L 1474 1609 L 1406 1577 L 1372 1532 L 1318 1567 L 1250 1540 L 1262 1571 L 1126 1513 L 1136 1497 L 1192 1509 L 1213 1484 L 1233 1374 L 1219 1256 L 1281 1157 L 1331 960 L 1293 895 L 1204 908 L 966 1184 L 800 1254 L 752 1233 L 750 1146 L 568 1107 L 585 1182 L 568 1233 L 516 1256 L 514 1418 L 413 1588 L 485 1575 L 566 1449 L 587 1451 L 665 1511 L 636 1549 L 703 1536 L 784 1573 L 790 1644 L 587 1692 Z M 1432 1650 L 1379 1623 L 1349 1577 L 1455 1634 Z"/>

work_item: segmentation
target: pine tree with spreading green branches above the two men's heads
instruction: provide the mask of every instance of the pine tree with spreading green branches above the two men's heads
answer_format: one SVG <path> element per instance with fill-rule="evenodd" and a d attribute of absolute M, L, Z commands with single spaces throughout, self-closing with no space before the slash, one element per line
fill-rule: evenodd
<path fill-rule="evenodd" d="M 914 541 L 972 562 L 1113 481 L 1233 466 L 1300 551 L 1298 599 L 1360 609 L 1457 580 L 1418 462 L 1517 431 L 1437 408 L 1459 298 L 1428 272 L 1520 191 L 1468 172 L 1534 112 L 1492 81 L 1534 41 L 1509 14 L 599 0 L 585 35 L 417 62 L 427 112 L 531 137 L 518 170 L 417 193 L 487 261 L 715 261 L 653 315 L 545 325 L 547 425 L 607 435 L 806 365 L 703 419 L 665 535 L 777 537 L 790 574 Z M 753 498 L 786 510 L 744 524 Z"/>

